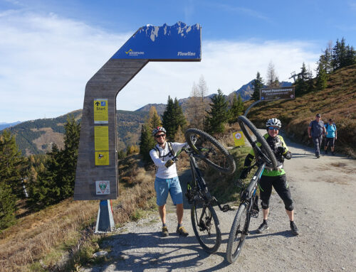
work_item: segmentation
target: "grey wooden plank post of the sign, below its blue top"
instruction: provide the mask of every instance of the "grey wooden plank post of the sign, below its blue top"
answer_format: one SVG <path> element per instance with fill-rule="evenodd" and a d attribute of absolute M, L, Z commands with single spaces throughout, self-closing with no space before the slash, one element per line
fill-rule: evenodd
<path fill-rule="evenodd" d="M 116 96 L 148 60 L 109 60 L 85 87 L 74 200 L 109 200 L 118 196 Z M 108 99 L 108 124 L 94 124 L 94 99 Z M 94 128 L 108 126 L 109 165 L 95 165 Z M 96 195 L 95 180 L 110 180 L 110 195 Z"/>

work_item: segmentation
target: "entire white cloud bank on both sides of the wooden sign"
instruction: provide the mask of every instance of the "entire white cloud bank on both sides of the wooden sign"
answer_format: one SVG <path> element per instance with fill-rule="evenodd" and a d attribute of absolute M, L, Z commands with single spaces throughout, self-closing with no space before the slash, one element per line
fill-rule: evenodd
<path fill-rule="evenodd" d="M 50 13 L 5 11 L 0 15 L 0 121 L 56 117 L 83 107 L 85 84 L 130 38 L 108 33 Z M 6 38 L 4 38 L 6 37 Z M 313 43 L 209 41 L 201 62 L 150 62 L 118 94 L 117 109 L 135 110 L 167 97 L 189 97 L 193 82 L 204 75 L 209 94 L 239 89 L 266 76 L 273 62 L 280 80 L 315 67 L 320 55 Z"/>

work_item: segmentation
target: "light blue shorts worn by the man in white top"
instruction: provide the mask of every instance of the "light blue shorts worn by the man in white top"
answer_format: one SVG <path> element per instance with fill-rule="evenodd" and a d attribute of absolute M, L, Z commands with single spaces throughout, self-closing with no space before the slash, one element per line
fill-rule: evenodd
<path fill-rule="evenodd" d="M 157 205 L 166 204 L 168 192 L 171 195 L 174 205 L 183 203 L 182 188 L 178 177 L 175 178 L 157 178 L 155 180 L 155 190 L 157 193 Z"/>

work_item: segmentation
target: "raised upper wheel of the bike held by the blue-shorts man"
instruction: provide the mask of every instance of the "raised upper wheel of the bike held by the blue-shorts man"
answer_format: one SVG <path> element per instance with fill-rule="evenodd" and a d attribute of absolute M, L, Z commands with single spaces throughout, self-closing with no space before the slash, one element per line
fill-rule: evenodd
<path fill-rule="evenodd" d="M 200 129 L 187 129 L 184 136 L 189 146 L 201 155 L 203 161 L 222 173 L 234 173 L 236 165 L 233 156 L 216 138 Z"/>

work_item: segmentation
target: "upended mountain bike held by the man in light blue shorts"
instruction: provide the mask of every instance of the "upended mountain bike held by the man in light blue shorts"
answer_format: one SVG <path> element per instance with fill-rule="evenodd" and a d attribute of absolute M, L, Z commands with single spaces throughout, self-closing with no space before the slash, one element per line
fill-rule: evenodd
<path fill-rule="evenodd" d="M 234 158 L 214 137 L 199 129 L 187 129 L 187 146 L 184 146 L 172 161 L 177 161 L 182 151 L 189 156 L 192 181 L 187 183 L 186 197 L 191 205 L 191 219 L 194 234 L 201 247 L 209 254 L 215 253 L 221 244 L 219 219 L 213 205 L 223 212 L 230 210 L 229 205 L 221 207 L 209 192 L 196 158 L 205 161 L 222 173 L 231 174 L 236 169 Z"/>

